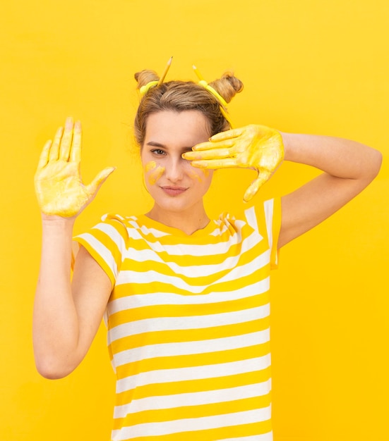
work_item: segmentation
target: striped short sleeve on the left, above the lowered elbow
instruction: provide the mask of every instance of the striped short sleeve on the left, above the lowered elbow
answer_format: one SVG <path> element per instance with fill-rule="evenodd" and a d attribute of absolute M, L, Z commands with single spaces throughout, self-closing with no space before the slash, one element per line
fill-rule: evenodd
<path fill-rule="evenodd" d="M 128 240 L 124 218 L 112 214 L 104 215 L 100 223 L 73 237 L 73 240 L 88 250 L 114 286 Z"/>

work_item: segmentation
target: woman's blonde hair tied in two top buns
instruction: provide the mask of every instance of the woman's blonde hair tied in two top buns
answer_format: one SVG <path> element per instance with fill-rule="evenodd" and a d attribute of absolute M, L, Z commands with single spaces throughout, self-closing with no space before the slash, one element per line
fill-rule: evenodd
<path fill-rule="evenodd" d="M 138 89 L 150 81 L 158 81 L 153 70 L 142 70 L 135 74 Z M 225 73 L 218 80 L 209 83 L 227 103 L 241 92 L 243 83 L 232 73 Z M 208 121 L 210 136 L 229 129 L 229 123 L 220 111 L 220 102 L 203 86 L 192 81 L 169 81 L 151 87 L 140 100 L 134 122 L 136 141 L 143 145 L 148 116 L 160 111 L 196 110 L 203 113 Z"/>

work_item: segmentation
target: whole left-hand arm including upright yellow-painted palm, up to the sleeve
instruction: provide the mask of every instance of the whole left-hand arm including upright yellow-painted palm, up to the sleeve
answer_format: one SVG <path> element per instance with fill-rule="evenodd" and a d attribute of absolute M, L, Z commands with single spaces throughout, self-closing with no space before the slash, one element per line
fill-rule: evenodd
<path fill-rule="evenodd" d="M 88 186 L 80 179 L 80 123 L 47 142 L 35 174 L 42 211 L 42 259 L 33 314 L 38 371 L 61 378 L 80 363 L 97 331 L 112 290 L 109 277 L 85 249 L 78 253 L 71 283 L 71 241 L 76 216 L 112 173 L 102 170 Z"/>

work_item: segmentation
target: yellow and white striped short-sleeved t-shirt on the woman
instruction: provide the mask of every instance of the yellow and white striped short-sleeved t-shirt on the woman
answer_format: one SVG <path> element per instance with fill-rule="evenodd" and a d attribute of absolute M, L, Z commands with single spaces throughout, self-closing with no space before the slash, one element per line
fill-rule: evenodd
<path fill-rule="evenodd" d="M 273 440 L 270 266 L 280 201 L 186 235 L 106 215 L 76 237 L 114 285 L 112 440 Z"/>

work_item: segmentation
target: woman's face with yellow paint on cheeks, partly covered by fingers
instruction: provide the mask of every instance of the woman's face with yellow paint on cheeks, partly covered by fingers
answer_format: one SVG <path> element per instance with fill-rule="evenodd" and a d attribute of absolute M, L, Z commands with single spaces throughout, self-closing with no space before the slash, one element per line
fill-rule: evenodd
<path fill-rule="evenodd" d="M 209 137 L 200 111 L 160 111 L 148 117 L 141 159 L 155 209 L 196 215 L 196 208 L 203 207 L 213 172 L 192 167 L 181 155 Z"/>

